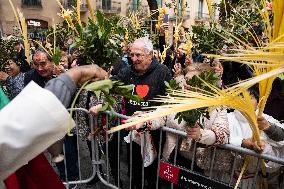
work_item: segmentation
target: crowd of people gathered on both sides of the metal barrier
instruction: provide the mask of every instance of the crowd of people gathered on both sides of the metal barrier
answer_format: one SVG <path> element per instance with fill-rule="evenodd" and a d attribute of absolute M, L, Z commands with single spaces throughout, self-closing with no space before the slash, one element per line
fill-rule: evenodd
<path fill-rule="evenodd" d="M 182 34 L 181 34 L 182 35 Z M 185 39 L 180 37 L 180 39 Z M 136 102 L 127 98 L 117 97 L 117 104 L 114 110 L 127 116 L 136 116 L 142 114 L 145 107 L 159 105 L 151 100 L 159 95 L 166 94 L 165 82 L 175 79 L 182 90 L 191 90 L 187 85 L 194 75 L 202 72 L 213 70 L 218 75 L 220 82 L 219 87 L 226 87 L 234 84 L 236 81 L 248 79 L 252 77 L 252 71 L 246 66 L 240 66 L 235 62 L 222 62 L 217 59 L 205 57 L 199 54 L 187 55 L 183 49 L 185 41 L 180 41 L 178 46 L 173 46 L 167 51 L 164 62 L 159 58 L 159 51 L 163 51 L 164 34 L 160 33 L 160 48 L 154 49 L 152 42 L 147 38 L 136 39 L 133 43 L 121 44 L 124 55 L 118 57 L 119 61 L 114 63 L 112 69 L 103 70 L 96 65 L 86 65 L 84 56 L 80 54 L 79 49 L 71 48 L 62 51 L 59 65 L 56 65 L 52 57 L 43 49 L 34 49 L 32 52 L 32 61 L 29 65 L 23 56 L 22 47 L 18 50 L 17 57 L 11 57 L 5 64 L 5 70 L 0 72 L 0 80 L 4 89 L 11 100 L 0 111 L 0 172 L 1 179 L 5 180 L 7 188 L 12 188 L 11 182 L 13 175 L 21 177 L 31 169 L 32 162 L 42 152 L 47 149 L 52 156 L 52 161 L 56 164 L 61 181 L 76 181 L 78 179 L 77 164 L 77 137 L 87 141 L 90 157 L 92 157 L 91 140 L 93 139 L 93 131 L 91 131 L 88 117 L 79 114 L 77 123 L 78 129 L 73 129 L 73 136 L 66 134 L 69 123 L 68 113 L 65 108 L 70 107 L 70 103 L 76 92 L 76 84 L 82 84 L 84 81 L 96 78 L 119 80 L 124 84 L 133 84 L 133 95 L 138 95 L 142 100 Z M 94 60 L 95 61 L 95 60 Z M 223 66 L 224 65 L 224 66 Z M 36 83 L 36 84 L 35 84 Z M 145 162 L 141 156 L 141 146 L 139 145 L 139 137 L 141 130 L 144 131 L 145 125 L 150 140 L 153 144 L 154 151 L 159 149 L 161 140 L 162 156 L 154 158 L 145 166 L 146 188 L 156 186 L 156 174 L 158 169 L 158 158 L 164 161 L 173 162 L 173 151 L 178 148 L 177 165 L 189 168 L 191 161 L 190 150 L 193 143 L 198 142 L 206 146 L 218 146 L 222 144 L 233 144 L 256 151 L 257 153 L 266 153 L 273 156 L 283 158 L 283 140 L 284 120 L 283 104 L 284 84 L 280 79 L 276 79 L 262 117 L 258 117 L 258 127 L 262 132 L 262 143 L 257 144 L 252 139 L 252 130 L 248 121 L 238 110 L 228 110 L 224 107 L 217 107 L 210 112 L 210 118 L 205 118 L 202 122 L 203 127 L 196 123 L 193 127 L 188 127 L 185 121 L 181 123 L 172 114 L 159 119 L 151 120 L 141 125 L 135 125 L 123 133 L 126 136 L 129 131 L 134 135 L 132 149 L 127 144 L 127 164 L 128 173 L 132 175 L 132 188 L 141 188 L 142 183 L 142 164 Z M 44 89 L 41 89 L 41 88 Z M 53 95 L 48 92 L 51 91 Z M 249 89 L 252 100 L 255 102 L 255 110 L 259 93 L 256 86 Z M 1 93 L 2 94 L 2 93 Z M 4 94 L 1 95 L 1 102 Z M 103 95 L 97 97 L 88 91 L 83 91 L 76 102 L 76 107 L 90 109 L 90 113 L 99 114 L 99 109 L 103 103 Z M 64 108 L 65 107 L 65 108 Z M 15 115 L 17 114 L 17 116 Z M 105 125 L 105 118 L 100 115 L 99 125 Z M 111 126 L 115 126 L 117 120 L 112 121 Z M 71 124 L 74 126 L 74 123 Z M 40 127 L 40 128 L 39 128 Z M 186 138 L 179 138 L 174 134 L 163 132 L 160 139 L 160 128 L 171 127 L 178 130 L 186 131 Z M 144 129 L 141 129 L 144 128 Z M 38 131 L 38 132 L 35 132 Z M 117 139 L 123 136 L 114 133 L 109 144 L 109 160 L 111 174 L 117 185 L 121 181 L 117 180 L 117 153 L 115 149 L 118 147 Z M 65 145 L 65 158 L 63 155 L 63 145 Z M 188 153 L 184 153 L 184 147 L 187 146 Z M 113 149 L 113 150 L 111 150 Z M 183 150 L 181 150 L 183 149 Z M 40 154 L 40 155 L 39 155 Z M 132 154 L 132 168 L 130 168 L 130 154 Z M 186 155 L 185 155 L 186 154 Z M 217 162 L 213 168 L 213 178 L 223 182 L 229 182 L 230 170 L 232 168 L 232 154 L 225 150 L 217 153 Z M 209 175 L 210 153 L 205 147 L 197 149 L 195 170 Z M 241 157 L 240 159 L 243 159 Z M 44 160 L 40 161 L 42 164 Z M 254 162 L 254 161 L 251 161 Z M 66 165 L 65 165 L 66 164 Z M 38 165 L 38 164 L 37 164 Z M 252 163 L 253 165 L 253 163 Z M 252 166 L 251 165 L 251 166 Z M 39 165 L 38 165 L 39 166 Z M 65 166 L 67 174 L 65 172 Z M 283 187 L 283 168 L 282 165 L 266 162 L 269 188 L 280 189 Z M 241 167 L 236 169 L 236 175 Z M 130 173 L 130 171 L 132 172 Z M 25 172 L 26 171 L 26 172 Z M 257 170 L 260 171 L 260 170 Z M 13 173 L 14 172 L 14 173 Z M 48 172 L 52 172 L 49 170 Z M 243 188 L 249 188 L 254 185 L 253 175 L 255 169 L 248 168 L 248 171 L 242 178 Z M 12 175 L 11 175 L 12 174 Z M 50 173 L 49 180 L 39 182 L 36 179 L 32 181 L 18 181 L 19 185 L 33 184 L 37 188 L 46 188 L 43 183 L 52 183 L 51 179 L 56 180 L 56 176 Z M 9 176 L 10 175 L 10 176 Z M 32 177 L 32 174 L 30 174 Z M 23 177 L 21 177 L 23 180 Z M 12 181 L 11 181 L 12 180 Z M 19 179 L 18 179 L 19 180 Z M 60 181 L 59 179 L 57 181 Z M 42 180 L 41 180 L 42 181 Z M 60 182 L 56 182 L 53 187 L 62 188 Z M 167 187 L 168 183 L 161 182 L 161 187 Z M 76 185 L 70 185 L 75 188 Z M 36 188 L 36 187 L 35 187 Z"/>

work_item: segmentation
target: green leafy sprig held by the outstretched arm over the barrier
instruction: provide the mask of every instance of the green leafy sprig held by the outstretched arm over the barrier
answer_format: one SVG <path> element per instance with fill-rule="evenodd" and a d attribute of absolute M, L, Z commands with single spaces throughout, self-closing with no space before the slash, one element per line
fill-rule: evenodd
<path fill-rule="evenodd" d="M 140 102 L 141 98 L 139 96 L 132 95 L 133 88 L 134 85 L 124 85 L 120 81 L 112 81 L 110 79 L 96 81 L 85 86 L 86 90 L 94 92 L 97 97 L 100 96 L 101 92 L 104 93 L 104 103 L 100 111 L 111 110 L 117 103 L 115 96 L 123 96 Z"/>

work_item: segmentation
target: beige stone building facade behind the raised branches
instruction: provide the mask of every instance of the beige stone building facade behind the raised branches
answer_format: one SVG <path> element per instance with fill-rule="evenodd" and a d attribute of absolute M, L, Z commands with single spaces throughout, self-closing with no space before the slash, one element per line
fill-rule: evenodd
<path fill-rule="evenodd" d="M 59 0 L 65 8 L 72 9 L 76 4 L 76 0 Z M 81 0 L 81 20 L 86 21 L 89 12 L 86 0 Z M 147 0 L 90 0 L 94 10 L 103 10 L 106 14 L 126 15 L 128 10 L 137 8 L 137 5 L 148 6 Z M 182 0 L 176 0 L 182 2 Z M 183 26 L 190 28 L 191 25 L 206 22 L 209 20 L 206 0 L 183 0 L 189 6 L 185 9 Z M 220 1 L 216 0 L 215 2 Z M 12 0 L 14 6 L 23 12 L 27 24 L 30 37 L 40 37 L 40 33 L 53 23 L 63 21 L 57 13 L 60 8 L 57 0 Z M 161 7 L 165 3 L 172 0 L 157 0 L 158 6 Z M 168 10 L 170 19 L 174 22 L 175 17 L 172 10 Z M 145 13 L 146 15 L 147 13 Z M 215 12 L 218 17 L 218 13 Z M 8 0 L 0 0 L 0 36 L 16 35 L 17 23 Z"/>

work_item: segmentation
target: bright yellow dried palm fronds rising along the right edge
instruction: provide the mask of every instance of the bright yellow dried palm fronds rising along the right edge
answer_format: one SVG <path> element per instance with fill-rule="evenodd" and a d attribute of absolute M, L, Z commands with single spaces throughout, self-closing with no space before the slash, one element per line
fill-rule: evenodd
<path fill-rule="evenodd" d="M 261 44 L 259 47 L 244 45 L 246 49 L 234 49 L 235 54 L 225 54 L 219 57 L 220 59 L 249 64 L 252 66 L 256 75 L 261 75 L 284 66 L 284 1 L 273 0 L 272 2 L 273 30 L 271 29 L 268 10 L 258 7 L 259 13 L 265 22 L 265 36 L 268 42 Z M 266 7 L 264 0 L 261 0 L 261 6 Z M 237 39 L 241 44 L 245 44 L 245 42 L 236 37 L 234 39 Z M 260 44 L 258 40 L 255 39 L 255 41 Z M 262 80 L 259 83 L 259 116 L 263 113 L 272 83 L 276 77 L 277 75 Z"/>

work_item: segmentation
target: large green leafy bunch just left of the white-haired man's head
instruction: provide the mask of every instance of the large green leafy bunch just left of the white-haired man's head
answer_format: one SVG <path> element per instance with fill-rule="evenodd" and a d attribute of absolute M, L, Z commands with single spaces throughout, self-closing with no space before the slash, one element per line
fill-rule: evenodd
<path fill-rule="evenodd" d="M 76 26 L 79 35 L 72 47 L 79 48 L 88 64 L 96 63 L 108 69 L 122 55 L 121 42 L 125 34 L 118 16 L 105 17 L 99 10 L 96 22 L 88 20 L 86 26 Z"/>

